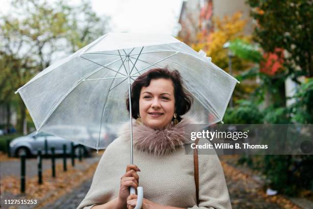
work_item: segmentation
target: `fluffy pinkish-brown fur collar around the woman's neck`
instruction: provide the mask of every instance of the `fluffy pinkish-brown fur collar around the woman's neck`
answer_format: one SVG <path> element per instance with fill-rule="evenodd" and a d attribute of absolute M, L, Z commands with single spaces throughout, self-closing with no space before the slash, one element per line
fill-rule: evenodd
<path fill-rule="evenodd" d="M 154 130 L 133 120 L 133 147 L 156 156 L 168 155 L 175 148 L 181 148 L 184 144 L 190 142 L 190 139 L 185 137 L 185 128 L 188 124 L 197 123 L 193 118 L 183 118 L 176 126 L 170 124 L 163 130 Z M 119 136 L 125 140 L 130 140 L 129 122 L 123 124 Z"/>

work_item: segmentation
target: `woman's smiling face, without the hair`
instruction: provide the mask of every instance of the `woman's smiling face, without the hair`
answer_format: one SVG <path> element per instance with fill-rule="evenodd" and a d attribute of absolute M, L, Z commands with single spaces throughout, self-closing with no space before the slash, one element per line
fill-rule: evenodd
<path fill-rule="evenodd" d="M 171 79 L 151 79 L 142 87 L 139 97 L 139 114 L 143 123 L 161 129 L 171 122 L 175 111 L 174 87 Z"/>

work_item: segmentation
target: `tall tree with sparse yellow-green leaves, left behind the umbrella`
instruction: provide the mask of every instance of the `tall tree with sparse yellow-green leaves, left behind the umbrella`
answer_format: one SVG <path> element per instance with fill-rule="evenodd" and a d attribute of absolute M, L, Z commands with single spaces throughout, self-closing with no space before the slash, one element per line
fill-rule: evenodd
<path fill-rule="evenodd" d="M 17 100 L 17 130 L 23 130 L 26 108 L 14 91 L 52 60 L 73 53 L 96 37 L 107 26 L 88 1 L 69 6 L 62 0 L 15 0 L 10 15 L 0 18 L 0 104 Z"/>

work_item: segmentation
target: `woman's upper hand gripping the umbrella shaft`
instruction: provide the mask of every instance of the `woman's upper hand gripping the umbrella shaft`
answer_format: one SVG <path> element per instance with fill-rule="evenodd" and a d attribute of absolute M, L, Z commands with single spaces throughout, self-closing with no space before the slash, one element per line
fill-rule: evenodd
<path fill-rule="evenodd" d="M 120 202 L 126 203 L 127 197 L 129 196 L 130 186 L 137 189 L 139 184 L 139 176 L 137 174 L 137 171 L 140 171 L 137 165 L 127 165 L 126 173 L 121 177 L 120 191 L 118 197 Z"/>

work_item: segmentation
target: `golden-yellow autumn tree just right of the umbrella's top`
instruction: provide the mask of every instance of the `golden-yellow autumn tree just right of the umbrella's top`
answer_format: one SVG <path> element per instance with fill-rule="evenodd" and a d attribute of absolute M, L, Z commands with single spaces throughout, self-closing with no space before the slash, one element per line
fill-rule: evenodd
<path fill-rule="evenodd" d="M 207 52 L 207 55 L 212 57 L 212 61 L 221 69 L 229 72 L 229 56 L 228 49 L 223 48 L 227 41 L 242 39 L 250 41 L 251 37 L 244 34 L 244 28 L 247 20 L 242 18 L 241 12 L 236 12 L 232 16 L 225 16 L 222 19 L 213 18 L 214 31 L 205 33 L 205 31 L 197 34 L 197 40 L 191 44 L 195 51 L 200 49 Z M 231 57 L 232 59 L 232 75 L 237 75 L 251 68 L 253 63 L 250 60 L 242 60 L 238 56 Z M 247 95 L 255 89 L 255 82 L 248 81 L 246 85 L 236 87 L 233 100 L 237 101 L 242 98 L 247 98 Z"/>

